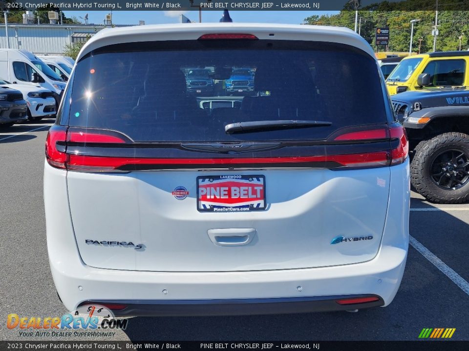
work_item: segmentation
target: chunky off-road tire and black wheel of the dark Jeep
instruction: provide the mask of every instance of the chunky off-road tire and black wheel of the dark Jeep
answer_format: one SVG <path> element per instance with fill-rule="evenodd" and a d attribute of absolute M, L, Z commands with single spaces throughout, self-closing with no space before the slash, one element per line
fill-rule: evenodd
<path fill-rule="evenodd" d="M 450 132 L 421 141 L 410 164 L 410 182 L 431 202 L 468 201 L 469 136 Z"/>

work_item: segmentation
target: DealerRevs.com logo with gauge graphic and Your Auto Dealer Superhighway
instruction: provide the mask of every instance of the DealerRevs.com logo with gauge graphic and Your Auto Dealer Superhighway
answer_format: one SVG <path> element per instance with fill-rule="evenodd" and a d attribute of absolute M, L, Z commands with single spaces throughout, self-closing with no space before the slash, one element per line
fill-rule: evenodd
<path fill-rule="evenodd" d="M 109 337 L 116 329 L 125 330 L 128 319 L 115 319 L 105 306 L 83 305 L 76 311 L 62 316 L 20 316 L 9 313 L 6 320 L 8 329 L 18 329 L 20 337 Z"/>

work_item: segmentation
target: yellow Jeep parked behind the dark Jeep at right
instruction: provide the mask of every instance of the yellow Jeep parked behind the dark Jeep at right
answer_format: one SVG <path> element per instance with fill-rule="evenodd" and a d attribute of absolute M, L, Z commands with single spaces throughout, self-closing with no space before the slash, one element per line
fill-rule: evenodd
<path fill-rule="evenodd" d="M 469 51 L 447 51 L 403 59 L 386 79 L 389 95 L 408 90 L 469 86 Z"/>

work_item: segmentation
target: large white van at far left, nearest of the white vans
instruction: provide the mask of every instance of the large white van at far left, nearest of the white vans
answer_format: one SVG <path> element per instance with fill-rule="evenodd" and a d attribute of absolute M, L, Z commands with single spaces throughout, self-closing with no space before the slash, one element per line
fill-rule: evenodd
<path fill-rule="evenodd" d="M 41 59 L 19 49 L 0 49 L 0 78 L 13 84 L 39 84 L 54 93 L 57 108 L 66 85 Z"/>

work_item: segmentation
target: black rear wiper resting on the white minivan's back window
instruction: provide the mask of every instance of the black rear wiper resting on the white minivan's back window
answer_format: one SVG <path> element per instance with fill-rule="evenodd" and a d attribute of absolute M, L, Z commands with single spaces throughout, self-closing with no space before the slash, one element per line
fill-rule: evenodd
<path fill-rule="evenodd" d="M 266 121 L 230 123 L 225 126 L 225 132 L 227 134 L 232 134 L 232 133 L 244 133 L 244 132 L 271 130 L 271 129 L 327 127 L 330 125 L 332 125 L 331 122 L 301 120 L 301 119 L 266 120 Z"/>

